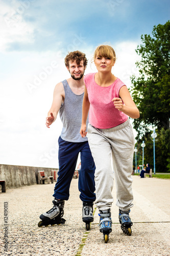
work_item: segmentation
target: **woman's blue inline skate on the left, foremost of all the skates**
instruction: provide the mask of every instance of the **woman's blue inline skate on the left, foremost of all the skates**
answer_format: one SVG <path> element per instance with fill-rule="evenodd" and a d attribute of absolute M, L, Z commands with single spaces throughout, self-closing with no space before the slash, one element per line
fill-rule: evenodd
<path fill-rule="evenodd" d="M 111 211 L 110 208 L 108 210 L 99 210 L 100 216 L 100 232 L 104 235 L 105 243 L 109 240 L 109 234 L 112 231 L 112 220 L 111 220 Z"/>

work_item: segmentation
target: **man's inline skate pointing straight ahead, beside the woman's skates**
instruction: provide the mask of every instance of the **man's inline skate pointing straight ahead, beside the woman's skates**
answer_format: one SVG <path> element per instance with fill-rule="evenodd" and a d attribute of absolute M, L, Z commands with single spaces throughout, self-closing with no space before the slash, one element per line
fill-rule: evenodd
<path fill-rule="evenodd" d="M 90 222 L 93 222 L 93 202 L 83 202 L 82 219 L 86 223 L 86 230 L 89 230 Z"/>

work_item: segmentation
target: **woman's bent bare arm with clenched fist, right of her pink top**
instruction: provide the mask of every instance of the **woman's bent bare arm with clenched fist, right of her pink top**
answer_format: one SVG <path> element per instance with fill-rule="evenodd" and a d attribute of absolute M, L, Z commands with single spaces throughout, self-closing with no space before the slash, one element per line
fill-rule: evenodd
<path fill-rule="evenodd" d="M 120 98 L 113 98 L 112 101 L 114 102 L 114 106 L 119 111 L 124 112 L 126 115 L 128 115 L 131 118 L 139 118 L 139 110 L 137 106 L 135 105 L 135 102 L 133 101 L 129 90 L 126 86 L 123 86 L 120 88 L 119 91 L 119 97 Z M 124 102 L 124 104 L 123 104 Z"/>

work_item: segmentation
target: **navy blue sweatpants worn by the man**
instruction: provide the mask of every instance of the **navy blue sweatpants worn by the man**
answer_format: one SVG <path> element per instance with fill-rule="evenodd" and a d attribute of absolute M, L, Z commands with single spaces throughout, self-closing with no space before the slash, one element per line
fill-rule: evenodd
<path fill-rule="evenodd" d="M 88 141 L 68 142 L 61 137 L 59 143 L 59 171 L 53 197 L 68 200 L 69 187 L 74 176 L 79 153 L 81 154 L 81 170 L 79 174 L 80 199 L 83 202 L 95 201 L 94 171 L 95 164 Z"/>

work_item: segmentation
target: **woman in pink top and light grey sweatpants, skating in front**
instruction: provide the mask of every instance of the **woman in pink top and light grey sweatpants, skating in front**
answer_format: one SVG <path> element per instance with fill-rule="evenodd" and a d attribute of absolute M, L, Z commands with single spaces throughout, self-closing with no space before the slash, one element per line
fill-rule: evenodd
<path fill-rule="evenodd" d="M 111 205 L 113 203 L 113 170 L 117 189 L 119 222 L 123 231 L 131 235 L 129 217 L 133 206 L 132 163 L 134 135 L 129 117 L 138 118 L 139 111 L 125 83 L 111 72 L 116 55 L 111 46 L 102 45 L 94 52 L 97 73 L 84 78 L 85 93 L 80 134 L 87 134 L 95 162 L 95 204 L 99 209 L 100 231 L 108 241 L 112 231 Z M 86 132 L 86 120 L 89 124 Z M 113 164 L 113 168 L 112 168 Z"/>

